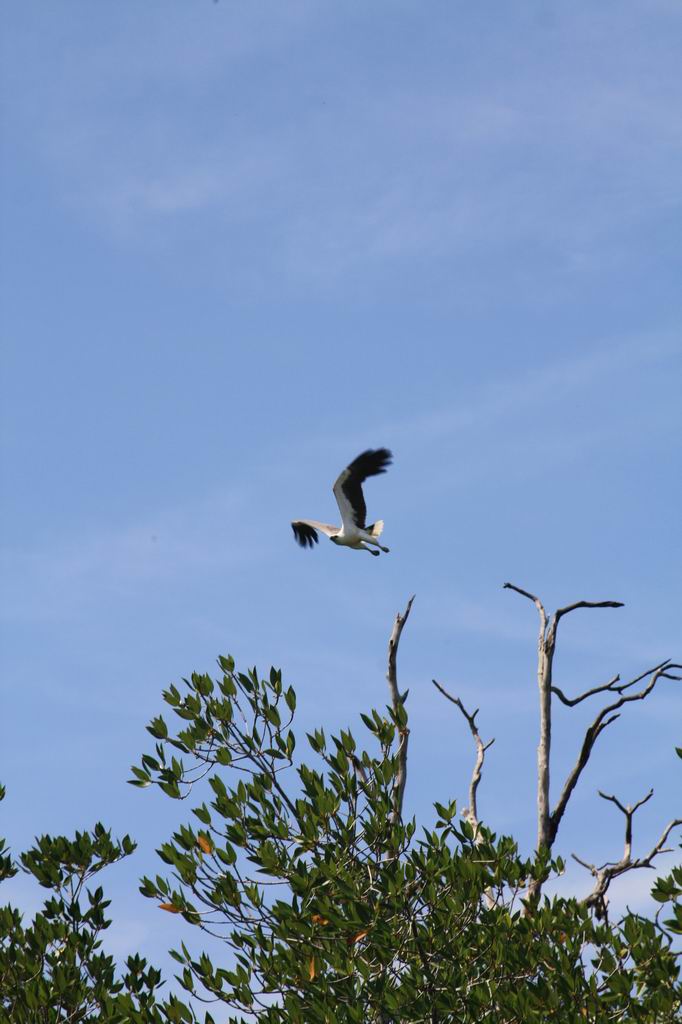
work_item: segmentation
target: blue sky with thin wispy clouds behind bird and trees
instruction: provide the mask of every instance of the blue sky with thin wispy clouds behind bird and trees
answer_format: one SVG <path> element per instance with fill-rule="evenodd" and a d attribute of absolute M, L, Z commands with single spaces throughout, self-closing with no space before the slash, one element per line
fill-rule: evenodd
<path fill-rule="evenodd" d="M 187 809 L 125 784 L 161 690 L 229 651 L 282 666 L 301 727 L 357 727 L 413 592 L 409 807 L 466 796 L 435 676 L 480 706 L 480 810 L 527 848 L 536 620 L 502 584 L 626 603 L 562 624 L 567 690 L 682 658 L 679 4 L 22 0 L 3 23 L 13 848 L 129 830 L 111 945 L 162 961 L 136 880 Z M 337 472 L 379 445 L 391 554 L 299 550 L 290 519 L 333 521 Z M 620 855 L 598 786 L 654 785 L 639 850 L 679 814 L 681 700 L 664 683 L 602 737 L 560 852 Z M 558 712 L 555 783 L 587 720 Z"/>

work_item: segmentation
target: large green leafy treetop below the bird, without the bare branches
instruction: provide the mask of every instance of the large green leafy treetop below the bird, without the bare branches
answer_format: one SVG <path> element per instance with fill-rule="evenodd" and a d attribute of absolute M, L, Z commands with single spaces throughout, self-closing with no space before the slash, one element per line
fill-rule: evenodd
<path fill-rule="evenodd" d="M 210 793 L 161 849 L 167 876 L 142 884 L 231 950 L 218 967 L 176 951 L 188 993 L 272 1024 L 677 1019 L 678 874 L 656 888 L 666 924 L 541 896 L 532 883 L 563 867 L 546 852 L 522 858 L 455 804 L 433 829 L 394 818 L 403 703 L 363 716 L 369 750 L 316 730 L 295 764 L 281 674 L 220 668 L 165 693 L 181 728 L 156 719 L 135 770 L 175 799 Z"/>

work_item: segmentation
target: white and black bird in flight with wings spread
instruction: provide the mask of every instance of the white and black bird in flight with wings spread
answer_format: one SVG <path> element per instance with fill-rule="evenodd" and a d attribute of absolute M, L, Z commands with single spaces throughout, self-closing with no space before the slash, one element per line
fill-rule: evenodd
<path fill-rule="evenodd" d="M 368 449 L 363 452 L 349 466 L 339 473 L 334 484 L 334 497 L 341 513 L 341 525 L 331 526 L 327 522 L 316 522 L 314 519 L 296 519 L 291 524 L 294 537 L 302 548 L 311 548 L 317 544 L 317 531 L 326 534 L 333 544 L 354 551 L 369 551 L 378 555 L 375 548 L 388 554 L 388 548 L 379 543 L 384 528 L 383 519 L 377 519 L 370 526 L 367 523 L 367 506 L 363 495 L 363 483 L 368 476 L 378 476 L 385 473 L 390 466 L 392 455 L 388 449 Z"/>

